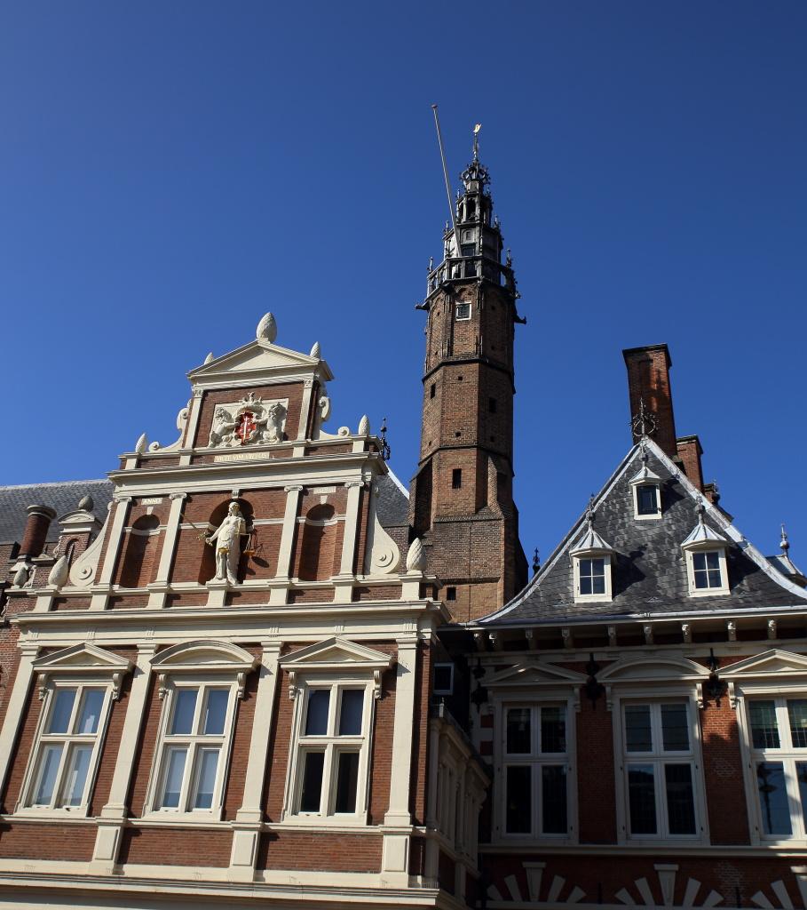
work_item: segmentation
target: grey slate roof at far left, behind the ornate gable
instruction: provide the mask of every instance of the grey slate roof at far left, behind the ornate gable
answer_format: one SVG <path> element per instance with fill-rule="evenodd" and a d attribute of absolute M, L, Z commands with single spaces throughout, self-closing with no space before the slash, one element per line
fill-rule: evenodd
<path fill-rule="evenodd" d="M 0 543 L 22 541 L 28 506 L 50 506 L 61 518 L 78 506 L 89 493 L 93 497 L 93 512 L 100 521 L 106 519 L 106 507 L 112 500 L 109 480 L 63 480 L 58 483 L 32 483 L 18 487 L 0 487 Z M 47 541 L 58 540 L 59 523 L 51 521 Z"/>

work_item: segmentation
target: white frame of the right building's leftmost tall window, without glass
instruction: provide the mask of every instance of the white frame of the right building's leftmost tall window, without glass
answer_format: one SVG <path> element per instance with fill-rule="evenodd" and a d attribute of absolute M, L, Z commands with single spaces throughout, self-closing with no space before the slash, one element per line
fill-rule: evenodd
<path fill-rule="evenodd" d="M 503 843 L 563 843 L 573 841 L 576 821 L 576 771 L 573 755 L 575 753 L 574 730 L 576 718 L 573 700 L 570 697 L 551 698 L 547 694 L 540 701 L 534 698 L 503 698 L 497 706 L 499 736 L 496 743 L 497 779 L 501 782 L 501 793 L 496 800 L 497 832 Z M 507 713 L 511 709 L 527 709 L 530 712 L 531 750 L 529 754 L 507 752 Z M 543 753 L 541 749 L 541 712 L 543 708 L 562 708 L 564 713 L 566 748 L 563 753 Z M 566 831 L 544 833 L 542 803 L 542 769 L 545 765 L 563 765 L 566 772 Z M 531 768 L 530 780 L 530 830 L 528 832 L 509 832 L 507 830 L 507 769 L 508 767 L 527 766 Z"/>

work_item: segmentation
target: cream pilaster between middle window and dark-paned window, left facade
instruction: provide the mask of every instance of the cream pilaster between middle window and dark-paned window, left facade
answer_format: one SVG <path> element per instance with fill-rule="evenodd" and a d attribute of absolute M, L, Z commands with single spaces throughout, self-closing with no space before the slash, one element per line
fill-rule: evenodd
<path fill-rule="evenodd" d="M 261 825 L 264 821 L 264 806 L 261 799 L 269 755 L 269 737 L 272 734 L 274 720 L 272 708 L 277 689 L 277 662 L 282 642 L 274 639 L 262 643 L 264 654 L 261 660 L 258 691 L 255 693 L 252 739 L 249 744 L 244 781 L 244 802 L 235 815 L 233 825 L 233 849 L 227 873 L 231 881 L 253 880 Z"/>

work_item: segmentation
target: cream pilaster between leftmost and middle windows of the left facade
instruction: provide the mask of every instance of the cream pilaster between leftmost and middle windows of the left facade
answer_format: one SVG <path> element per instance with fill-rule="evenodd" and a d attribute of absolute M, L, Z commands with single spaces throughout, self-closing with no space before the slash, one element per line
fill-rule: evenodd
<path fill-rule="evenodd" d="M 121 833 L 126 820 L 126 795 L 134 772 L 134 755 L 146 713 L 146 697 L 151 681 L 151 660 L 154 657 L 154 642 L 137 646 L 137 660 L 134 665 L 134 679 L 126 703 L 126 716 L 121 740 L 118 745 L 115 771 L 109 788 L 109 799 L 98 819 L 95 835 L 95 850 L 89 871 L 95 875 L 111 875 L 117 862 L 121 846 Z"/>

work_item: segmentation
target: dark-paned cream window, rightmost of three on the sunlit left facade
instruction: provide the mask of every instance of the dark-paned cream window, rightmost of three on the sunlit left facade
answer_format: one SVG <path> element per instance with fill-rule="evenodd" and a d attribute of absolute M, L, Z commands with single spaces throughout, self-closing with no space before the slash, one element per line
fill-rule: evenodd
<path fill-rule="evenodd" d="M 294 814 L 338 817 L 364 812 L 368 693 L 366 685 L 344 683 L 304 689 L 296 736 Z"/>

